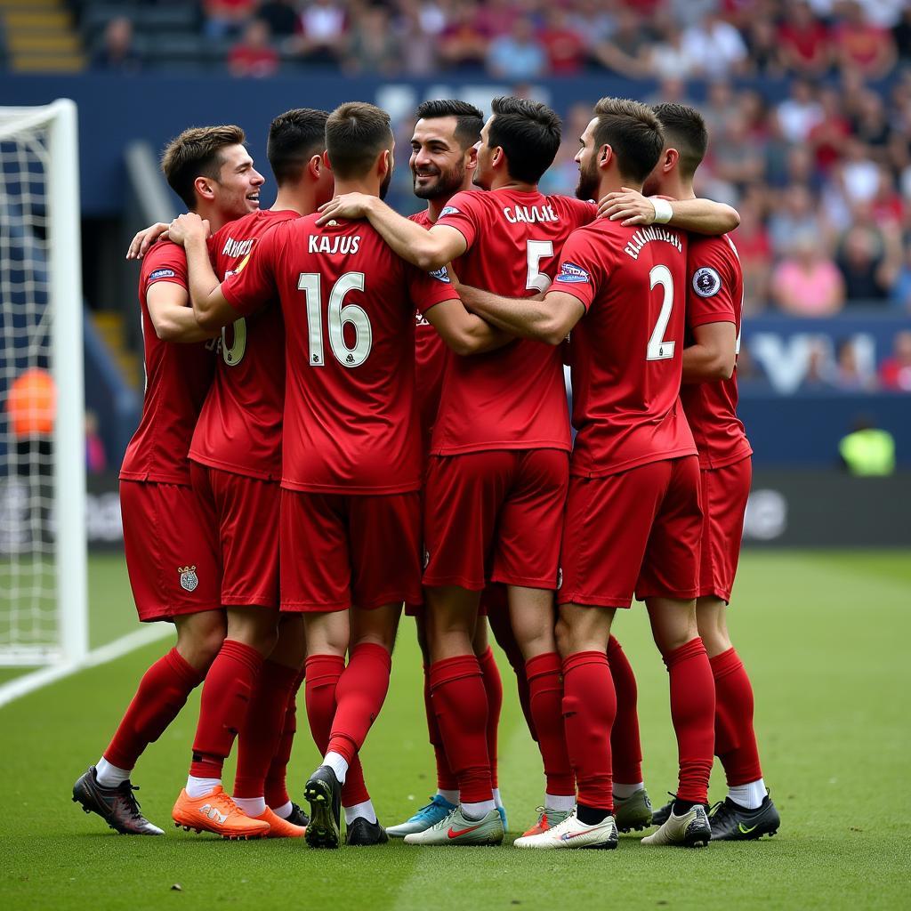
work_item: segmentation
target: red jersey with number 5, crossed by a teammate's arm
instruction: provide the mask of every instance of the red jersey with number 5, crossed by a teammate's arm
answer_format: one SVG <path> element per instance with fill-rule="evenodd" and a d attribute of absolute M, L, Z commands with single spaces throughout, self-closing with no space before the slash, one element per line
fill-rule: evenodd
<path fill-rule="evenodd" d="M 515 298 L 547 287 L 564 241 L 594 217 L 592 203 L 566 196 L 466 190 L 436 223 L 465 236 L 468 249 L 453 264 L 459 281 Z M 537 448 L 570 448 L 558 349 L 517 339 L 490 353 L 450 357 L 431 452 Z"/>

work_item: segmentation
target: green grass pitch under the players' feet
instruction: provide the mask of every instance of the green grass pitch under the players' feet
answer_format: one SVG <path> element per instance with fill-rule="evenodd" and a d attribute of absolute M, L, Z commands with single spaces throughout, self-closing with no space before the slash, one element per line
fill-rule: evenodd
<path fill-rule="evenodd" d="M 118 558 L 95 559 L 91 578 L 93 644 L 135 628 Z M 773 839 L 702 851 L 649 849 L 621 836 L 610 853 L 404 844 L 317 852 L 186 834 L 170 825 L 169 810 L 189 763 L 196 698 L 135 773 L 143 811 L 168 834 L 118 836 L 70 803 L 70 789 L 107 745 L 139 675 L 168 647 L 159 643 L 0 710 L 4 911 L 907 907 L 911 554 L 748 552 L 734 598 L 730 625 L 752 676 L 763 773 L 783 819 Z M 646 785 L 657 805 L 675 782 L 667 675 L 644 609 L 622 613 L 615 631 L 639 678 Z M 505 660 L 501 669 L 500 788 L 515 837 L 533 822 L 543 781 Z M 317 759 L 299 732 L 292 793 Z M 363 764 L 385 824 L 435 790 L 408 619 Z M 717 771 L 713 800 L 724 794 Z"/>

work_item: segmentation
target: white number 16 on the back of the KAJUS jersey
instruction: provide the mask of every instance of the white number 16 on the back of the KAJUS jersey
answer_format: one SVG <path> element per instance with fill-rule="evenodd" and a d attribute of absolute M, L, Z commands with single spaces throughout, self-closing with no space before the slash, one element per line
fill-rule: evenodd
<path fill-rule="evenodd" d="M 298 291 L 307 301 L 307 328 L 310 336 L 309 363 L 322 367 L 325 363 L 322 347 L 322 291 L 319 272 L 301 272 L 297 280 Z M 333 285 L 329 293 L 326 316 L 329 327 L 329 347 L 335 360 L 343 367 L 359 367 L 370 355 L 374 343 L 370 317 L 356 303 L 342 305 L 344 296 L 350 291 L 363 292 L 363 272 L 345 272 Z M 354 344 L 348 346 L 344 337 L 345 323 L 353 326 Z"/>

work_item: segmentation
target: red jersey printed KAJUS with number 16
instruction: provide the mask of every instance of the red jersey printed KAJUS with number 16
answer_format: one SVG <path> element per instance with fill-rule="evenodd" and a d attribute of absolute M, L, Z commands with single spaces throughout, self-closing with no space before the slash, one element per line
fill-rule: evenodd
<path fill-rule="evenodd" d="M 415 309 L 455 299 L 366 221 L 285 221 L 222 284 L 245 313 L 278 294 L 285 320 L 281 484 L 315 493 L 421 486 Z"/>

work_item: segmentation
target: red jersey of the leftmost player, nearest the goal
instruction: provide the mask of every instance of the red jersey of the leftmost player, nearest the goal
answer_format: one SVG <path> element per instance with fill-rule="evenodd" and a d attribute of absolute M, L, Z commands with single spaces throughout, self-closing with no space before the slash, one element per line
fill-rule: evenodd
<path fill-rule="evenodd" d="M 148 315 L 146 293 L 157 281 L 187 281 L 187 257 L 170 241 L 155 244 L 139 271 L 139 313 L 145 349 L 142 419 L 123 457 L 120 477 L 189 486 L 189 441 L 215 369 L 216 340 L 162 342 Z"/>

